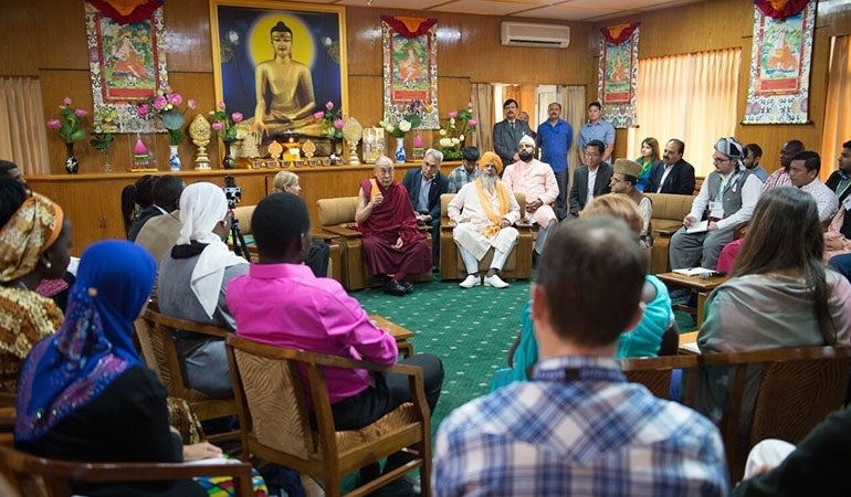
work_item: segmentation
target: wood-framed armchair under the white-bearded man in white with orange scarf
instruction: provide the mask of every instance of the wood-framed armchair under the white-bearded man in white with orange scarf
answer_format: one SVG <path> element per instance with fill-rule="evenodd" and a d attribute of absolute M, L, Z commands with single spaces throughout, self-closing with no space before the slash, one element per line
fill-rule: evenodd
<path fill-rule="evenodd" d="M 521 209 L 526 204 L 524 193 L 515 193 Z M 458 250 L 455 240 L 452 237 L 452 230 L 455 223 L 449 220 L 446 207 L 454 193 L 443 193 L 440 195 L 440 276 L 442 279 L 464 279 L 466 277 L 466 266 L 461 258 L 461 252 Z M 519 232 L 517 245 L 514 246 L 508 258 L 505 261 L 501 274 L 505 279 L 528 279 L 532 277 L 532 250 L 535 246 L 535 233 L 529 225 L 515 226 Z M 479 262 L 479 271 L 486 272 L 491 268 L 494 251 L 491 248 L 487 254 Z"/>

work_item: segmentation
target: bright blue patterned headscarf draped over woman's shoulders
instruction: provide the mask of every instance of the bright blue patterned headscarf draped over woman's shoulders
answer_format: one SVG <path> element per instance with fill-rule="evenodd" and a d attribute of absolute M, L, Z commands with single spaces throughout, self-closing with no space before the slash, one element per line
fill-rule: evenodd
<path fill-rule="evenodd" d="M 140 245 L 107 240 L 86 248 L 65 322 L 35 345 L 21 370 L 17 440 L 40 438 L 125 370 L 144 363 L 133 343 L 133 321 L 156 274 L 154 257 Z"/>

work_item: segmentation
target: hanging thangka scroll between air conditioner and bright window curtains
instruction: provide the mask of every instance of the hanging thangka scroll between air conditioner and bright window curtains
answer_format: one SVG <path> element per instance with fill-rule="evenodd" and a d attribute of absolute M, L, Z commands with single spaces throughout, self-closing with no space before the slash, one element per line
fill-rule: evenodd
<path fill-rule="evenodd" d="M 606 120 L 616 128 L 637 126 L 639 22 L 601 28 L 598 94 Z"/>

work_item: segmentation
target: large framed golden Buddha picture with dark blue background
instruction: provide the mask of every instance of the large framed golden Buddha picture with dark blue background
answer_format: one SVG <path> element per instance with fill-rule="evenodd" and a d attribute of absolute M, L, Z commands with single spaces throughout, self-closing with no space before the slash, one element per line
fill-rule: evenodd
<path fill-rule="evenodd" d="M 210 0 L 210 28 L 216 98 L 245 116 L 241 135 L 318 138 L 326 103 L 348 115 L 343 7 Z"/>

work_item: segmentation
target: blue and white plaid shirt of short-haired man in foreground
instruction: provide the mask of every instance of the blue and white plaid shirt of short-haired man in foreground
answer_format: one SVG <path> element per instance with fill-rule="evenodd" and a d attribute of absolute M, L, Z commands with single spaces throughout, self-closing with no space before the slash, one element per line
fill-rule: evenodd
<path fill-rule="evenodd" d="M 515 382 L 441 424 L 432 488 L 442 496 L 722 496 L 717 429 L 628 383 L 609 358 L 543 360 L 540 371 L 597 368 L 613 378 Z"/>

